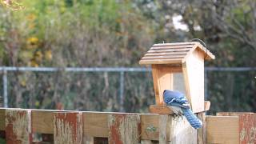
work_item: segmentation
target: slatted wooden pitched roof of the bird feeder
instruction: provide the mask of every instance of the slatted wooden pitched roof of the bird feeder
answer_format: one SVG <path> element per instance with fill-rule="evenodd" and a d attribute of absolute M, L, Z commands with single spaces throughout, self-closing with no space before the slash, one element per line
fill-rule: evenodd
<path fill-rule="evenodd" d="M 214 59 L 214 54 L 210 53 L 200 42 L 175 42 L 154 44 L 150 50 L 141 58 L 139 64 L 172 64 L 186 61 L 188 55 L 194 50 L 200 50 L 206 54 L 205 59 Z"/>

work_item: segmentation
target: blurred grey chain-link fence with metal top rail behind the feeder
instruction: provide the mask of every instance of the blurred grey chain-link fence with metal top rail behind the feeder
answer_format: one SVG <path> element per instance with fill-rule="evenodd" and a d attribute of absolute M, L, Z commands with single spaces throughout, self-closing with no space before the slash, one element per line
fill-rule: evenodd
<path fill-rule="evenodd" d="M 0 67 L 0 71 L 5 107 L 148 112 L 154 104 L 150 68 Z M 254 111 L 255 72 L 255 67 L 206 67 L 210 113 Z M 184 85 L 181 75 L 174 77 L 178 79 L 174 85 Z"/>

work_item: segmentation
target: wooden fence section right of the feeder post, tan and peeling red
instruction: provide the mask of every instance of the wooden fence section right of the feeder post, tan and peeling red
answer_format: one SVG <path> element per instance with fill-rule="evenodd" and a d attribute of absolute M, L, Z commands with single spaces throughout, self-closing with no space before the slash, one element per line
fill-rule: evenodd
<path fill-rule="evenodd" d="M 206 117 L 207 143 L 256 143 L 256 113 L 222 112 Z"/>

